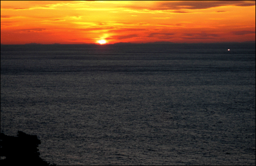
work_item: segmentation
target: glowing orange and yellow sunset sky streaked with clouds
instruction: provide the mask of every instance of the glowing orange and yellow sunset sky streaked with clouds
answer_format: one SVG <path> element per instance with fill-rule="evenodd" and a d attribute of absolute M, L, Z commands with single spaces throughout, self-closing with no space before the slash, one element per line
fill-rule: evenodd
<path fill-rule="evenodd" d="M 255 41 L 255 1 L 1 1 L 2 44 Z"/>

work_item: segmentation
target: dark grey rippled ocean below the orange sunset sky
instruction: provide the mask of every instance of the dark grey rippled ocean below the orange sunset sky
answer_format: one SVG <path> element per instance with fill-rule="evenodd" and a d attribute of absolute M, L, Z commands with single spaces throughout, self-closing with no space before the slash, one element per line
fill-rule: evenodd
<path fill-rule="evenodd" d="M 255 43 L 1 45 L 18 130 L 57 165 L 255 165 Z"/>

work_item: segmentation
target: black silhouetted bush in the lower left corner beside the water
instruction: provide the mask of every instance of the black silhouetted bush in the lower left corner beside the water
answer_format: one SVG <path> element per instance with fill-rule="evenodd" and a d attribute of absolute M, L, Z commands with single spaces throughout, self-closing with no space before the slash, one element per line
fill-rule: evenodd
<path fill-rule="evenodd" d="M 38 145 L 41 141 L 36 135 L 29 135 L 18 131 L 17 137 L 1 133 L 2 165 L 51 165 L 39 157 Z M 53 164 L 56 165 L 56 164 Z"/>

